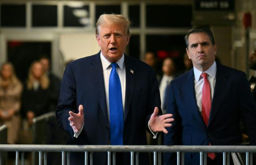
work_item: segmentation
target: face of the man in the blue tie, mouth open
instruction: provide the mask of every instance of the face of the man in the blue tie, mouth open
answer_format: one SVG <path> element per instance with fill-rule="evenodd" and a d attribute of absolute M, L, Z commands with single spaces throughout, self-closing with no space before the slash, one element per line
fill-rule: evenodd
<path fill-rule="evenodd" d="M 96 35 L 98 45 L 104 57 L 110 62 L 121 59 L 130 36 L 126 35 L 126 28 L 122 24 L 104 23 Z"/>

